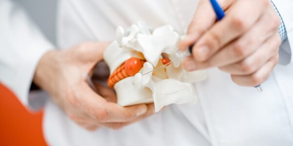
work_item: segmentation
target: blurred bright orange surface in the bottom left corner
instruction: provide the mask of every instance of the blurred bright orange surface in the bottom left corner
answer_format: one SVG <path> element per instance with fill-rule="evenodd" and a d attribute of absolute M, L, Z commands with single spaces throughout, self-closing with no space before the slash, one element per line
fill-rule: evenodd
<path fill-rule="evenodd" d="M 14 93 L 0 84 L 0 146 L 46 146 L 42 114 L 27 111 Z"/>

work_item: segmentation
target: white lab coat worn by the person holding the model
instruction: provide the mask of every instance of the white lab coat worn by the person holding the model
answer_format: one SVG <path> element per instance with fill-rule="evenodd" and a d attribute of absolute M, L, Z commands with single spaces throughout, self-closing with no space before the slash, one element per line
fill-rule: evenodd
<path fill-rule="evenodd" d="M 166 110 L 115 131 L 89 132 L 48 100 L 44 135 L 52 146 L 293 146 L 293 0 L 273 0 L 288 32 L 280 58 L 258 93 L 235 85 L 230 75 L 209 69 L 195 84 L 199 103 Z M 153 27 L 174 26 L 184 34 L 197 0 L 63 0 L 58 14 L 58 48 L 87 40 L 111 41 L 117 26 L 145 20 Z M 0 81 L 30 107 L 28 90 L 44 52 L 54 48 L 23 11 L 0 0 Z M 33 108 L 33 107 L 31 107 Z"/>

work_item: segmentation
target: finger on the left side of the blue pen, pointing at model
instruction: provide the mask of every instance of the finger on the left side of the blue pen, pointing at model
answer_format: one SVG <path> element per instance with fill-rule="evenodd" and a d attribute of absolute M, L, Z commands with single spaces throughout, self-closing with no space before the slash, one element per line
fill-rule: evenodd
<path fill-rule="evenodd" d="M 223 9 L 227 9 L 233 0 L 219 0 Z M 188 26 L 187 36 L 179 43 L 179 48 L 184 50 L 206 32 L 216 21 L 216 16 L 209 3 L 209 0 L 201 0 L 196 12 Z"/>

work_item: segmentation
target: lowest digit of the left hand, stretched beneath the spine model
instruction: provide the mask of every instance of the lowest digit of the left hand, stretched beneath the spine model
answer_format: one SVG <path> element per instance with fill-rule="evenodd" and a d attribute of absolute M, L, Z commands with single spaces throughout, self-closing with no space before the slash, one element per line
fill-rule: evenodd
<path fill-rule="evenodd" d="M 121 107 L 116 103 L 107 102 L 82 82 L 77 92 L 78 106 L 97 122 L 127 122 L 144 114 L 147 110 L 145 104 Z"/>

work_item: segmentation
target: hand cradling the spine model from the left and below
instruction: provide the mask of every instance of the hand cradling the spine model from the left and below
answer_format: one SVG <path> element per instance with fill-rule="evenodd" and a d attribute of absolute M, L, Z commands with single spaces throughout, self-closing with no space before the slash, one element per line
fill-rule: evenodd
<path fill-rule="evenodd" d="M 77 124 L 95 130 L 119 129 L 153 113 L 153 104 L 121 107 L 113 90 L 96 84 L 93 91 L 83 78 L 103 59 L 108 43 L 85 42 L 62 51 L 49 51 L 37 66 L 34 82 L 47 91 Z"/>

